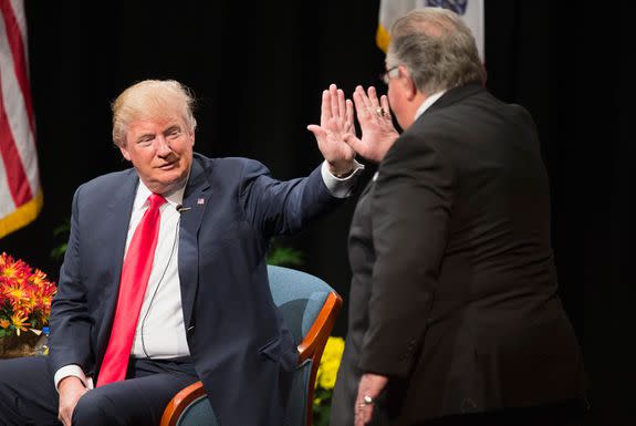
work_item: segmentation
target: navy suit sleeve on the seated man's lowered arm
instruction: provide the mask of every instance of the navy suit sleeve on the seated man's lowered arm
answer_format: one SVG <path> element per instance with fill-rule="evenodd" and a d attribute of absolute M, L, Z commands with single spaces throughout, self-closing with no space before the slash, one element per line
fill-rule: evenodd
<path fill-rule="evenodd" d="M 58 293 L 51 303 L 49 361 L 53 372 L 69 364 L 77 364 L 84 371 L 92 367 L 91 318 L 80 272 L 80 191 L 81 188 L 73 197 L 71 236 L 60 270 Z"/>

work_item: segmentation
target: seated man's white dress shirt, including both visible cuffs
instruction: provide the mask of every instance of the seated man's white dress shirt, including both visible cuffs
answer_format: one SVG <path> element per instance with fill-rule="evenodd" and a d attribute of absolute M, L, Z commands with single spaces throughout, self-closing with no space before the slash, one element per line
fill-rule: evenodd
<path fill-rule="evenodd" d="M 354 173 L 346 178 L 336 178 L 323 162 L 321 175 L 330 193 L 337 198 L 348 197 L 353 189 L 355 176 L 364 166 L 355 162 Z M 142 311 L 137 321 L 131 356 L 144 359 L 173 359 L 190 354 L 186 340 L 184 311 L 181 309 L 181 291 L 178 271 L 179 221 L 177 207 L 184 200 L 185 187 L 166 195 L 166 201 L 159 209 L 161 214 L 159 236 L 153 270 L 144 295 Z M 150 190 L 139 180 L 133 202 L 133 212 L 126 238 L 126 252 L 137 225 L 149 206 Z M 125 254 L 124 254 L 125 256 Z M 93 388 L 92 377 L 86 377 L 76 364 L 65 365 L 55 372 L 55 387 L 62 378 L 79 377 L 87 388 Z"/>

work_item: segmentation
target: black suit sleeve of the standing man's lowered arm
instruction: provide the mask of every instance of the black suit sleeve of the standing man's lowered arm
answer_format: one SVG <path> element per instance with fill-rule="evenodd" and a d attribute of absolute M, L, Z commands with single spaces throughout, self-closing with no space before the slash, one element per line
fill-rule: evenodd
<path fill-rule="evenodd" d="M 369 328 L 359 367 L 404 377 L 426 331 L 451 209 L 452 173 L 436 147 L 403 135 L 378 169 L 372 199 Z"/>

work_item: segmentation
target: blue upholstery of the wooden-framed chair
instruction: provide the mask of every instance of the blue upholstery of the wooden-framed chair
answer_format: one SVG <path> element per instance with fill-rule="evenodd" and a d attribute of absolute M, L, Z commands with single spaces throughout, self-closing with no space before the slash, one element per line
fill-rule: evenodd
<path fill-rule="evenodd" d="M 333 289 L 323 280 L 294 269 L 268 266 L 270 290 L 296 345 L 310 331 Z M 285 423 L 282 426 L 304 426 L 307 415 L 307 393 L 312 360 L 296 367 Z M 206 396 L 186 408 L 177 426 L 219 426 Z"/>

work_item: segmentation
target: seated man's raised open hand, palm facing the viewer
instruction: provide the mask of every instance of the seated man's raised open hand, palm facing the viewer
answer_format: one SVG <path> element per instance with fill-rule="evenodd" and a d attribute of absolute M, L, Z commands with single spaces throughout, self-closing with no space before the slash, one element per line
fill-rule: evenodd
<path fill-rule="evenodd" d="M 331 84 L 329 91 L 323 91 L 320 126 L 310 124 L 307 129 L 314 134 L 333 175 L 353 172 L 355 152 L 345 143 L 346 135 L 355 137 L 353 102 L 345 101 L 344 92 L 335 84 Z"/>

